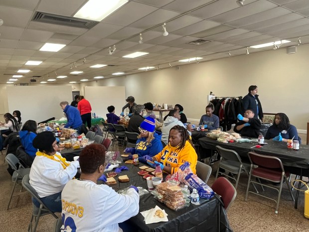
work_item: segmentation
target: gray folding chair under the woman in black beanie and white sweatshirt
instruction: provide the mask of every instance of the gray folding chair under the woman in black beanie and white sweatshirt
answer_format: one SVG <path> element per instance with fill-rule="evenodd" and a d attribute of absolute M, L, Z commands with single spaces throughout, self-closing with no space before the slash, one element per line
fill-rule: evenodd
<path fill-rule="evenodd" d="M 31 220 L 30 220 L 30 223 L 29 223 L 29 226 L 28 226 L 28 232 L 35 232 L 36 231 L 36 227 L 37 227 L 37 224 L 38 224 L 38 221 L 39 221 L 39 218 L 41 216 L 45 216 L 45 215 L 49 215 L 51 214 L 55 219 L 58 219 L 58 217 L 53 213 L 51 212 L 46 206 L 45 204 L 41 201 L 40 197 L 37 195 L 36 191 L 32 188 L 32 186 L 30 185 L 29 183 L 29 175 L 25 175 L 23 178 L 22 178 L 22 186 L 23 188 L 25 188 L 25 190 L 27 190 L 32 198 L 36 199 L 39 203 L 40 203 L 40 207 L 37 208 L 33 203 L 32 203 L 32 216 L 31 216 Z M 35 220 L 35 225 L 34 225 L 34 228 L 32 230 L 32 221 L 33 221 L 33 218 Z"/>

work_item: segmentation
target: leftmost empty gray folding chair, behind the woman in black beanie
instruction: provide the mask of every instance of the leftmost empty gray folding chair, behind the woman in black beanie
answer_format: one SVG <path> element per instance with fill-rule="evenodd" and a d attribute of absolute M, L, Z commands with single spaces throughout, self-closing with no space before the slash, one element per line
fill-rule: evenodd
<path fill-rule="evenodd" d="M 9 197 L 9 201 L 7 204 L 7 208 L 6 210 L 8 210 L 9 205 L 11 203 L 12 197 L 13 197 L 13 193 L 16 187 L 16 184 L 19 182 L 21 182 L 22 178 L 30 173 L 30 168 L 24 168 L 22 166 L 22 164 L 19 162 L 18 158 L 13 155 L 13 154 L 7 154 L 7 156 L 5 157 L 5 161 L 8 163 L 8 165 L 14 170 L 14 173 L 12 175 L 12 182 L 14 182 L 12 191 L 11 191 L 11 195 Z M 16 168 L 16 165 L 19 165 L 18 169 Z M 21 191 L 21 190 L 20 190 Z"/>

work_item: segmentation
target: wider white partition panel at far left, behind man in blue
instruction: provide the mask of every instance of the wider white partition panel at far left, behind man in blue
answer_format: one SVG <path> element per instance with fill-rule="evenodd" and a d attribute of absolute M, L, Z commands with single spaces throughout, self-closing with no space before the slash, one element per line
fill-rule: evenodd
<path fill-rule="evenodd" d="M 72 86 L 7 86 L 8 111 L 19 110 L 21 121 L 31 119 L 38 122 L 49 118 L 64 117 L 61 101 L 72 101 Z"/>

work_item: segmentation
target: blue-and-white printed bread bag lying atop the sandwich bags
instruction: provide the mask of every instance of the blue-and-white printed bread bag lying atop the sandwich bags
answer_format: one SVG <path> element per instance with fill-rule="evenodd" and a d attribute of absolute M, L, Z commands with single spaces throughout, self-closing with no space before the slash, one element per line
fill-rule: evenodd
<path fill-rule="evenodd" d="M 214 196 L 212 189 L 192 173 L 188 162 L 181 165 L 177 172 L 179 172 L 181 183 L 187 185 L 191 191 L 196 189 L 201 198 L 210 199 Z"/>

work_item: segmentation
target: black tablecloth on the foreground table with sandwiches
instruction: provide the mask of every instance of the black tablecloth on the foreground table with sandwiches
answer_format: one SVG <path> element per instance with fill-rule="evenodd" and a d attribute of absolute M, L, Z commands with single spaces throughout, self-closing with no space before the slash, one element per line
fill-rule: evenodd
<path fill-rule="evenodd" d="M 124 165 L 124 164 L 121 164 Z M 144 165 L 144 164 L 140 164 Z M 111 186 L 115 191 L 127 188 L 130 185 L 142 187 L 147 189 L 147 181 L 137 174 L 140 169 L 134 165 L 126 164 L 129 171 L 123 171 L 118 176 L 128 175 L 130 182 L 120 183 L 118 182 L 118 176 L 115 177 L 117 185 Z M 173 211 L 167 208 L 164 204 L 154 199 L 154 196 L 145 194 L 140 198 L 140 211 L 147 211 L 155 206 L 165 210 L 168 215 L 168 222 L 154 223 L 146 225 L 144 217 L 139 213 L 137 216 L 130 219 L 130 222 L 134 224 L 139 230 L 143 232 L 226 232 L 229 228 L 229 222 L 227 215 L 218 199 L 215 197 L 210 199 L 199 206 L 190 204 L 179 211 Z M 220 217 L 219 217 L 220 215 Z M 220 230 L 218 230 L 218 222 L 220 218 Z"/>

